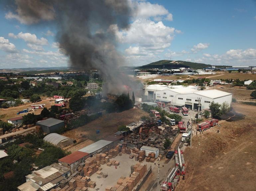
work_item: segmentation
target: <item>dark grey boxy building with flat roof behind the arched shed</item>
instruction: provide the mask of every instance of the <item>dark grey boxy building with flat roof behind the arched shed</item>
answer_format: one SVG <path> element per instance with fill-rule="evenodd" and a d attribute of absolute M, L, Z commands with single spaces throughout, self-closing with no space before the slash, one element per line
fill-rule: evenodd
<path fill-rule="evenodd" d="M 64 127 L 64 121 L 54 118 L 38 121 L 37 126 L 40 126 L 44 133 L 53 133 Z"/>

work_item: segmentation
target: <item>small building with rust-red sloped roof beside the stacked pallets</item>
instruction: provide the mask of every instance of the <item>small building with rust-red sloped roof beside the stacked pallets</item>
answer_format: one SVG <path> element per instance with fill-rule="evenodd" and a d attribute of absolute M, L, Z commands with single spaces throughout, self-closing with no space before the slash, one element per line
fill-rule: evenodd
<path fill-rule="evenodd" d="M 87 159 L 88 157 L 89 157 L 88 153 L 75 151 L 70 155 L 67 155 L 59 159 L 58 161 L 63 166 L 69 168 L 71 171 L 71 174 L 73 174 L 75 171 L 78 171 L 79 166 L 83 166 L 85 159 Z"/>

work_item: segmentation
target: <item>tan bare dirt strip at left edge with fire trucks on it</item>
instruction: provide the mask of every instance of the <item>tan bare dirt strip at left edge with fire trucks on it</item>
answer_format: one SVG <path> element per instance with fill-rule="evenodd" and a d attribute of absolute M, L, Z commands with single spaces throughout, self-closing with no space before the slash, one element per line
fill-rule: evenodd
<path fill-rule="evenodd" d="M 54 105 L 54 100 L 53 99 L 52 99 L 52 101 L 50 101 L 51 99 L 49 99 L 49 98 L 42 98 L 42 100 L 43 101 L 37 102 L 37 103 L 26 103 L 24 105 L 20 105 L 20 106 L 17 106 L 17 107 L 10 107 L 10 108 L 7 108 L 7 109 L 0 109 L 0 119 L 7 122 L 7 119 L 24 116 L 28 113 L 23 113 L 23 114 L 17 115 L 17 112 L 22 111 L 24 109 L 27 109 L 27 108 L 31 107 L 31 105 L 46 104 L 45 107 L 47 107 L 47 108 L 50 108 L 52 105 Z M 34 113 L 34 114 L 38 115 L 38 114 L 41 113 L 41 111 L 42 111 L 42 109 L 37 109 L 36 111 L 29 112 L 29 113 Z"/>

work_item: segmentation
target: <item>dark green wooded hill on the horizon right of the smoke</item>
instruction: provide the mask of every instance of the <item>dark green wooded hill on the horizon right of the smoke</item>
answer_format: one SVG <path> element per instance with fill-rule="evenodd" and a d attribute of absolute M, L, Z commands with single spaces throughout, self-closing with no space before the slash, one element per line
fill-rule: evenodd
<path fill-rule="evenodd" d="M 172 60 L 160 60 L 157 62 L 152 62 L 150 64 L 140 66 L 140 69 L 149 69 L 149 68 L 159 68 L 159 69 L 174 69 L 174 68 L 193 68 L 193 69 L 202 69 L 204 67 L 211 67 L 210 64 L 202 64 L 196 62 L 187 62 L 187 61 L 172 61 Z M 223 66 L 216 66 L 223 67 Z"/>

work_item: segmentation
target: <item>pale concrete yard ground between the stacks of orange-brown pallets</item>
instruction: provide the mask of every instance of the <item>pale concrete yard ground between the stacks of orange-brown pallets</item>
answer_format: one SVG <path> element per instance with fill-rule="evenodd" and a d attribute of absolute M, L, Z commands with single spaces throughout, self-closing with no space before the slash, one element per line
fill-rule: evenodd
<path fill-rule="evenodd" d="M 105 191 L 107 186 L 114 186 L 116 185 L 117 180 L 121 176 L 129 177 L 131 174 L 131 165 L 135 165 L 136 163 L 139 163 L 139 161 L 135 161 L 134 158 L 130 159 L 128 154 L 122 154 L 122 156 L 116 156 L 115 158 L 112 158 L 111 160 L 119 161 L 120 165 L 115 168 L 115 166 L 108 167 L 106 164 L 101 165 L 102 170 L 101 172 L 107 173 L 108 176 L 106 178 L 103 178 L 102 175 L 99 175 L 97 173 L 94 173 L 90 176 L 90 179 L 92 181 L 96 182 L 95 188 L 88 188 L 89 191 Z M 144 160 L 142 164 L 147 165 L 147 169 L 152 166 L 152 172 L 153 169 L 157 168 L 154 163 L 146 162 Z M 154 170 L 155 171 L 155 170 Z"/>

